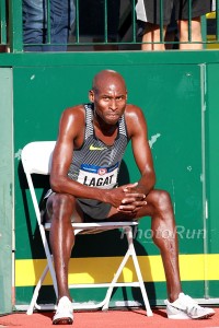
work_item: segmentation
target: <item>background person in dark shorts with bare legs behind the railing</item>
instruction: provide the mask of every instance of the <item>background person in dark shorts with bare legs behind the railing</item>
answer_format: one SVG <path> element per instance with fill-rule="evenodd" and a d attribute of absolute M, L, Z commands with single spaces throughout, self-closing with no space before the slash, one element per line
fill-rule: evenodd
<path fill-rule="evenodd" d="M 141 28 L 141 49 L 165 50 L 166 28 L 172 14 L 177 22 L 180 49 L 203 49 L 200 20 L 212 10 L 211 2 L 211 0 L 163 0 L 161 8 L 160 0 L 138 0 L 136 14 Z"/>

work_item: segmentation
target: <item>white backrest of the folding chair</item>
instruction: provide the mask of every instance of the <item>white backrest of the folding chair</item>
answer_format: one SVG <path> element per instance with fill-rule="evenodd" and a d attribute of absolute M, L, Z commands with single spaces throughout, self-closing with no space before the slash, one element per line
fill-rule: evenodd
<path fill-rule="evenodd" d="M 25 173 L 48 175 L 50 173 L 55 145 L 56 141 L 34 141 L 27 143 L 21 153 Z"/>

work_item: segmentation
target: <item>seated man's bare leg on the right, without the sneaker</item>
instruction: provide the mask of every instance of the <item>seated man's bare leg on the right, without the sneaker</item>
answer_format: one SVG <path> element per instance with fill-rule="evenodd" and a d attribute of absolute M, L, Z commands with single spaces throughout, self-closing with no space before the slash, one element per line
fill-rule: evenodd
<path fill-rule="evenodd" d="M 175 220 L 170 196 L 163 190 L 152 190 L 146 198 L 147 204 L 137 214 L 122 214 L 112 209 L 108 220 L 128 220 L 151 216 L 151 230 L 154 244 L 159 247 L 165 278 L 168 297 L 174 302 L 182 292 L 178 269 L 178 246 Z"/>

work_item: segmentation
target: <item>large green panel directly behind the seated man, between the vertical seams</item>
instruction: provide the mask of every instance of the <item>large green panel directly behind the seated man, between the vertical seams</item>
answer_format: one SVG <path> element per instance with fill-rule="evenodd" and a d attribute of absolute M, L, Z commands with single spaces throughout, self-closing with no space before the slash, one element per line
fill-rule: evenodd
<path fill-rule="evenodd" d="M 14 148 L 16 165 L 16 259 L 42 258 L 38 232 L 28 191 L 19 160 L 21 149 L 33 140 L 54 140 L 64 108 L 88 101 L 93 75 L 101 69 L 119 71 L 127 81 L 128 101 L 139 105 L 148 118 L 149 139 L 157 169 L 157 187 L 170 191 L 177 221 L 181 254 L 203 254 L 203 162 L 201 162 L 201 80 L 198 65 L 107 65 L 34 66 L 14 68 Z M 83 63 L 83 65 L 82 65 Z M 124 167 L 128 174 L 123 180 L 135 181 L 138 172 L 128 148 Z M 27 207 L 28 204 L 28 207 Z M 158 255 L 148 237 L 150 220 L 142 220 L 136 239 L 139 255 Z M 22 241 L 20 239 L 22 236 Z M 100 244 L 99 244 L 100 245 Z M 36 247 L 37 246 L 37 247 Z M 110 256 L 120 255 L 117 244 Z M 78 256 L 80 249 L 78 250 Z M 106 250 L 107 254 L 107 250 Z M 96 248 L 95 256 L 100 256 Z M 195 296 L 204 293 L 201 288 Z M 159 298 L 165 297 L 164 283 L 152 284 Z M 27 289 L 26 289 L 27 290 Z M 80 292 L 81 297 L 88 293 Z M 194 294 L 193 293 L 193 294 Z M 97 297 L 99 293 L 96 294 Z M 116 295 L 114 295 L 116 297 Z M 151 292 L 150 297 L 154 297 Z M 16 304 L 25 296 L 25 288 L 16 289 Z"/>

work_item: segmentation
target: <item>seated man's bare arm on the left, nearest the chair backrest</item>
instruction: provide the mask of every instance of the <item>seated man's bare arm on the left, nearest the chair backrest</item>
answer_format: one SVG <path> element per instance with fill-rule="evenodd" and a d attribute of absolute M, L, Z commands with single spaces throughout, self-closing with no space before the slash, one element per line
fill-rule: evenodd
<path fill-rule="evenodd" d="M 54 151 L 50 186 L 55 192 L 70 194 L 77 198 L 90 198 L 108 202 L 113 207 L 119 207 L 124 198 L 124 187 L 115 189 L 100 189 L 84 186 L 68 177 L 68 171 L 73 156 L 73 150 L 80 148 L 83 142 L 84 113 L 81 106 L 68 108 L 64 112 L 59 134 Z M 131 187 L 132 184 L 127 185 Z"/>

